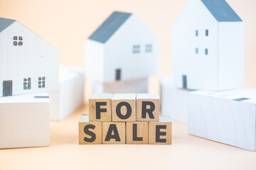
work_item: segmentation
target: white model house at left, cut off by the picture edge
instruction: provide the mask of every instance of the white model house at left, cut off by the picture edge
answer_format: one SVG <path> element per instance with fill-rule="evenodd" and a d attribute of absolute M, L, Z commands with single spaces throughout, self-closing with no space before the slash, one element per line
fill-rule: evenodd
<path fill-rule="evenodd" d="M 58 50 L 15 20 L 0 18 L 0 96 L 58 89 Z"/>

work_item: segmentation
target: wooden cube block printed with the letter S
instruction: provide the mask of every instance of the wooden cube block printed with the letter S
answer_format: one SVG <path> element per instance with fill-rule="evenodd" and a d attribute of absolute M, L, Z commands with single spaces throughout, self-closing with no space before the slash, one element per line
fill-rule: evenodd
<path fill-rule="evenodd" d="M 79 120 L 79 144 L 102 144 L 102 123 L 89 122 L 88 115 Z"/>

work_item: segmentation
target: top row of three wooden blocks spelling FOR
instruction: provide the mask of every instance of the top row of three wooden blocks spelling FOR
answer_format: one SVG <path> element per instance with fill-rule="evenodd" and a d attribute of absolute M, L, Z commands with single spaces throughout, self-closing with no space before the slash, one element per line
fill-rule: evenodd
<path fill-rule="evenodd" d="M 159 94 L 92 94 L 90 122 L 159 121 Z"/>

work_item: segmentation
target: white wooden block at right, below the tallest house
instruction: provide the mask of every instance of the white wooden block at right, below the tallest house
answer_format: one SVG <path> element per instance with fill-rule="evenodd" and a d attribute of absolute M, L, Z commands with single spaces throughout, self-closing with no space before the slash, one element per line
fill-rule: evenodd
<path fill-rule="evenodd" d="M 255 151 L 256 89 L 193 91 L 188 98 L 188 133 Z"/>

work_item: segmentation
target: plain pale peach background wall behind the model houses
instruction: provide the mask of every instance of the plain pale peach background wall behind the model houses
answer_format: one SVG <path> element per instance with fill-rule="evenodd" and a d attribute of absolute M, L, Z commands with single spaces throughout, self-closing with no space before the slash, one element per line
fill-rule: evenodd
<path fill-rule="evenodd" d="M 85 39 L 112 13 L 136 13 L 161 41 L 159 75 L 171 74 L 171 26 L 188 0 L 0 0 L 13 18 L 60 51 L 60 64 L 84 65 Z M 256 87 L 256 1 L 228 0 L 245 22 L 245 86 Z"/>

